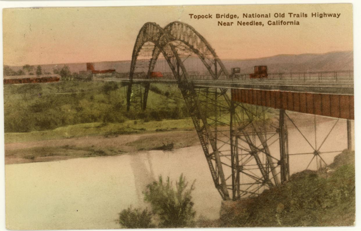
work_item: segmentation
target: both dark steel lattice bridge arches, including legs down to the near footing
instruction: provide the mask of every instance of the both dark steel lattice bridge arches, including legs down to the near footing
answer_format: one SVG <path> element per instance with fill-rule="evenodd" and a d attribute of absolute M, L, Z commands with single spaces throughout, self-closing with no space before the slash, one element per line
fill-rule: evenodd
<path fill-rule="evenodd" d="M 214 105 L 219 104 L 217 103 L 217 100 L 223 98 L 223 101 L 227 103 L 226 107 L 219 107 L 221 110 L 228 110 L 228 116 L 230 121 L 230 126 L 232 127 L 232 121 L 235 120 L 237 123 L 239 123 L 239 118 L 236 115 L 236 113 L 232 113 L 231 111 L 234 110 L 234 106 L 232 105 L 231 100 L 229 99 L 228 95 L 226 94 L 227 89 L 222 88 L 215 88 L 213 92 L 211 92 L 213 99 L 209 98 L 212 102 L 204 102 L 199 99 L 199 95 L 201 92 L 196 92 L 192 82 L 190 81 L 188 77 L 188 73 L 186 70 L 186 67 L 183 64 L 183 61 L 179 55 L 179 46 L 184 45 L 184 48 L 188 51 L 193 52 L 196 54 L 200 60 L 203 62 L 204 66 L 208 69 L 208 72 L 212 76 L 213 79 L 218 79 L 221 75 L 223 75 L 223 78 L 228 78 L 228 72 L 225 68 L 225 66 L 222 64 L 221 60 L 219 60 L 219 57 L 216 55 L 216 52 L 214 49 L 210 46 L 210 44 L 201 36 L 193 27 L 187 25 L 186 23 L 182 22 L 172 22 L 169 23 L 164 28 L 161 28 L 156 23 L 145 23 L 144 26 L 140 29 L 137 40 L 134 45 L 133 54 L 132 54 L 132 62 L 131 62 L 131 69 L 130 69 L 130 81 L 128 85 L 128 91 L 127 91 L 127 109 L 129 110 L 130 104 L 131 104 L 131 93 L 132 93 L 132 84 L 134 79 L 134 71 L 136 66 L 136 61 L 138 59 L 138 55 L 140 50 L 142 49 L 143 45 L 145 43 L 151 42 L 154 44 L 154 48 L 152 51 L 152 57 L 149 60 L 148 64 L 148 73 L 147 78 L 149 78 L 151 71 L 153 71 L 155 64 L 158 60 L 158 57 L 160 53 L 164 56 L 165 60 L 167 61 L 174 77 L 178 81 L 178 87 L 181 90 L 181 93 L 183 95 L 183 98 L 186 102 L 187 108 L 190 112 L 193 124 L 195 126 L 195 130 L 197 131 L 197 135 L 199 137 L 201 146 L 203 148 L 206 160 L 208 162 L 208 166 L 213 178 L 213 182 L 215 187 L 217 188 L 218 192 L 220 193 L 223 200 L 230 200 L 230 195 L 228 190 L 232 190 L 232 198 L 236 199 L 240 196 L 240 190 L 239 190 L 239 173 L 242 171 L 239 167 L 238 158 L 236 154 L 234 146 L 234 135 L 232 135 L 232 131 L 230 131 L 230 135 L 228 136 L 228 141 L 222 141 L 223 144 L 217 145 L 217 141 L 219 139 L 217 138 L 217 122 L 212 123 L 212 125 L 209 124 L 207 119 L 210 119 L 212 122 L 213 118 L 207 117 L 204 113 L 201 113 L 201 104 L 202 106 L 208 105 Z M 177 44 L 178 43 L 178 44 Z M 181 44 L 180 44 L 181 43 Z M 149 91 L 149 82 L 145 83 L 144 86 L 144 93 L 143 93 L 143 105 L 142 109 L 146 108 L 147 103 L 147 96 Z M 202 92 L 201 94 L 208 94 L 208 88 L 205 90 L 205 92 Z M 221 96 L 221 97 L 220 97 Z M 206 96 L 208 97 L 208 96 Z M 234 116 L 233 116 L 234 115 Z M 252 115 L 249 116 L 250 118 Z M 218 121 L 220 123 L 223 123 L 221 121 Z M 260 136 L 260 135 L 258 135 Z M 264 146 L 263 149 L 259 149 L 256 147 L 255 144 L 252 143 L 251 138 L 247 134 L 245 134 L 245 139 L 248 140 L 248 143 L 250 145 L 250 155 L 255 159 L 256 165 L 258 165 L 258 168 L 261 173 L 261 178 L 256 178 L 255 176 L 251 176 L 257 184 L 260 182 L 261 185 L 268 185 L 268 187 L 272 187 L 273 184 L 279 184 L 278 182 L 278 176 L 275 172 L 275 167 L 271 168 L 272 174 L 273 174 L 273 180 L 274 183 L 271 182 L 271 179 L 268 176 L 268 172 L 262 171 L 264 165 L 260 158 L 258 157 L 258 152 L 264 152 L 267 158 L 269 159 L 269 162 L 272 163 L 272 160 L 269 155 L 268 147 L 262 142 L 262 145 Z M 262 137 L 260 137 L 262 139 Z M 229 154 L 223 154 L 226 151 L 222 149 L 222 147 L 227 144 L 230 145 L 231 150 L 230 156 L 231 156 L 231 164 L 227 165 L 224 162 L 221 161 L 222 157 L 227 157 Z M 266 150 L 266 151 L 263 151 Z M 227 157 L 228 158 L 228 157 Z M 231 175 L 228 177 L 225 177 L 225 174 L 223 172 L 223 166 L 231 167 Z M 226 181 L 231 178 L 232 183 L 227 184 Z M 238 182 L 237 182 L 238 181 Z M 229 188 L 229 186 L 232 186 L 232 188 Z M 248 189 L 246 189 L 248 190 Z M 236 196 L 236 192 L 238 195 Z"/>

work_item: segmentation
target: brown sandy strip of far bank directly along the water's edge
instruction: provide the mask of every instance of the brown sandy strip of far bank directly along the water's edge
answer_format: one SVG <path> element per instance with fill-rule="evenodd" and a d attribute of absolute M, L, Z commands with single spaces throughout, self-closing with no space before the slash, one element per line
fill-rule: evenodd
<path fill-rule="evenodd" d="M 134 151 L 161 150 L 167 144 L 178 149 L 196 145 L 198 142 L 195 131 L 159 131 L 5 143 L 5 164 L 115 156 Z"/>

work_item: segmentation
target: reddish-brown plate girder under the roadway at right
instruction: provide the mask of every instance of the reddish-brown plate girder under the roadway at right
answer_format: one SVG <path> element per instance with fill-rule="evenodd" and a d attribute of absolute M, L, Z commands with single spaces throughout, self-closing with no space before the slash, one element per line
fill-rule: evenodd
<path fill-rule="evenodd" d="M 353 95 L 231 89 L 232 100 L 307 114 L 354 119 Z"/>

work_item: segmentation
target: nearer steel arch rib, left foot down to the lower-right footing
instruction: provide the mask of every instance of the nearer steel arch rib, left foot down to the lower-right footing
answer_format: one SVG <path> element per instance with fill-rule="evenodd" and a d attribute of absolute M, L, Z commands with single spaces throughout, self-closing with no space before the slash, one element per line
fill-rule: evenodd
<path fill-rule="evenodd" d="M 130 107 L 131 87 L 133 83 L 132 80 L 134 78 L 134 70 L 139 51 L 145 43 L 153 42 L 155 44 L 155 47 L 153 50 L 152 58 L 151 60 L 149 60 L 147 78 L 149 78 L 149 73 L 153 70 L 158 56 L 160 55 L 160 53 L 162 53 L 165 57 L 165 60 L 168 62 L 168 65 L 173 72 L 174 77 L 178 80 L 178 87 L 180 88 L 183 98 L 186 101 L 187 107 L 190 110 L 193 124 L 195 125 L 197 134 L 200 139 L 200 143 L 202 145 L 206 160 L 208 162 L 209 169 L 212 174 L 213 182 L 219 193 L 221 194 L 222 198 L 224 200 L 229 200 L 230 197 L 225 181 L 225 176 L 223 174 L 223 167 L 219 158 L 219 151 L 217 149 L 217 141 L 213 137 L 206 117 L 200 113 L 200 106 L 197 102 L 196 92 L 192 85 L 188 82 L 187 70 L 178 55 L 176 47 L 172 44 L 173 41 L 178 39 L 187 42 L 186 40 L 184 40 L 184 33 L 179 33 L 179 35 L 177 36 L 177 32 L 175 31 L 177 29 L 177 27 L 175 26 L 181 26 L 184 28 L 186 24 L 181 23 L 170 25 L 171 26 L 167 27 L 167 30 L 173 31 L 173 33 L 175 33 L 173 35 L 169 34 L 168 31 L 162 29 L 156 23 L 145 23 L 142 29 L 140 29 L 132 54 L 132 62 L 129 75 L 130 83 L 127 91 L 127 109 L 129 109 Z M 189 41 L 187 43 L 190 44 Z M 217 67 L 215 68 L 217 69 Z M 149 85 L 148 89 L 147 86 L 145 86 L 145 91 L 149 91 Z M 144 93 L 144 96 L 146 95 L 147 92 Z M 145 106 L 143 106 L 143 109 L 145 109 Z"/>

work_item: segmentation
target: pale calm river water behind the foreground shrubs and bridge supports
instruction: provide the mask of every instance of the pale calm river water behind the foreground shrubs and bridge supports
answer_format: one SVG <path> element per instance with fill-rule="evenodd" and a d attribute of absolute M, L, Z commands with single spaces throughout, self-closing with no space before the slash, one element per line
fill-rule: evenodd
<path fill-rule="evenodd" d="M 317 125 L 319 147 L 335 121 Z M 315 145 L 314 127 L 301 132 Z M 312 138 L 313 137 L 313 138 Z M 295 128 L 289 127 L 290 153 L 313 149 Z M 340 121 L 320 151 L 347 147 L 346 124 Z M 277 145 L 271 152 L 279 151 Z M 327 164 L 338 153 L 322 154 Z M 305 169 L 312 154 L 290 157 L 291 174 Z M 316 167 L 316 161 L 309 169 Z M 198 215 L 218 218 L 220 196 L 213 186 L 199 145 L 173 152 L 150 151 L 112 157 L 78 158 L 56 162 L 5 166 L 6 223 L 9 229 L 119 228 L 117 214 L 132 205 L 144 206 L 142 191 L 159 175 L 176 180 L 181 173 L 195 182 L 194 209 Z"/>

